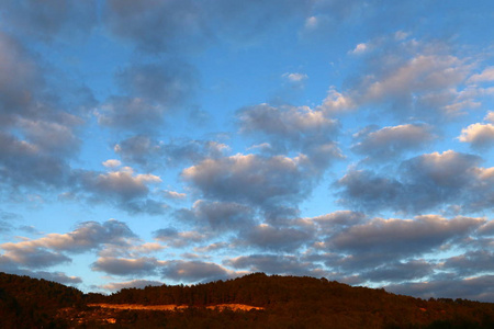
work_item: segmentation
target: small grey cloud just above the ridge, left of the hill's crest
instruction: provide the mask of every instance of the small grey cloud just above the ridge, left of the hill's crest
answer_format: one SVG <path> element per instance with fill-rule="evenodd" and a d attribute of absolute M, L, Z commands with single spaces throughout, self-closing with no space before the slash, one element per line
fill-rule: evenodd
<path fill-rule="evenodd" d="M 164 262 L 160 272 L 164 279 L 178 282 L 225 280 L 234 274 L 215 263 L 182 260 Z"/>

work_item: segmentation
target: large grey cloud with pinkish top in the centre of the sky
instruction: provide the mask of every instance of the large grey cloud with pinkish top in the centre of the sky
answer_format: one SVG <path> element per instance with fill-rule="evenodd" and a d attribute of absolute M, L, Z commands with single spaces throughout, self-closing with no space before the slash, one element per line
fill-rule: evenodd
<path fill-rule="evenodd" d="M 205 159 L 182 171 L 205 198 L 270 208 L 296 204 L 310 191 L 312 173 L 303 158 L 235 155 Z"/>

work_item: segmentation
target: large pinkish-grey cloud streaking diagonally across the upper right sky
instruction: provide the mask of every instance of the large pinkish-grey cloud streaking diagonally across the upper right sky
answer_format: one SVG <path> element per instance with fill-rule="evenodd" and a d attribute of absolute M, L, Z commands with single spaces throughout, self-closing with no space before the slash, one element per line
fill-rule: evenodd
<path fill-rule="evenodd" d="M 332 88 L 323 111 L 375 106 L 400 120 L 442 121 L 479 106 L 474 90 L 462 89 L 473 65 L 441 44 L 381 36 L 366 43 L 366 55 L 359 77 L 341 92 Z"/>

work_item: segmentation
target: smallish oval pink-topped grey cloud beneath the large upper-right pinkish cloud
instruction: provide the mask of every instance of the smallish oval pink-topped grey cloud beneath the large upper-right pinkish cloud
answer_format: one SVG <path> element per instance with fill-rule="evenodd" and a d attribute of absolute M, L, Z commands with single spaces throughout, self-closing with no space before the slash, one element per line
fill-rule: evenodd
<path fill-rule="evenodd" d="M 417 150 L 436 138 L 428 125 L 406 124 L 389 126 L 374 132 L 361 131 L 355 137 L 360 141 L 351 149 L 368 156 L 368 160 L 380 161 Z"/>

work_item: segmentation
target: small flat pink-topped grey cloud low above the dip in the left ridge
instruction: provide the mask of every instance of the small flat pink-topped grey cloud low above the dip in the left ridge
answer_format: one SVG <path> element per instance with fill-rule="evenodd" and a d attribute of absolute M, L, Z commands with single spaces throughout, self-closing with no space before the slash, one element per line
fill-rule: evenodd
<path fill-rule="evenodd" d="M 91 264 L 91 269 L 114 275 L 153 275 L 156 273 L 159 261 L 155 258 L 114 258 L 102 257 Z"/>

